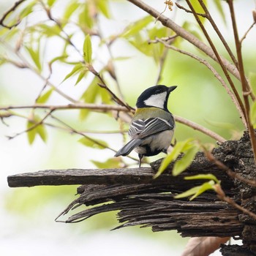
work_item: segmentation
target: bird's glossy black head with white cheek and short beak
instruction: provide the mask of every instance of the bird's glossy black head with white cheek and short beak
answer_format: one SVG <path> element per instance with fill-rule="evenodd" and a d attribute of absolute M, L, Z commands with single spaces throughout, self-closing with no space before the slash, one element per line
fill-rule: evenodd
<path fill-rule="evenodd" d="M 138 97 L 137 108 L 155 107 L 167 110 L 167 102 L 170 92 L 177 86 L 152 86 L 143 91 Z"/>

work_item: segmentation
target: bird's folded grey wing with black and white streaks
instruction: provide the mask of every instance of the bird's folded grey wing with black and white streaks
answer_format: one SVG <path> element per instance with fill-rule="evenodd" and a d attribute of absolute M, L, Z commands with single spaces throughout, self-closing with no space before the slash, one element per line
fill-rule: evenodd
<path fill-rule="evenodd" d="M 132 121 L 129 127 L 130 138 L 146 138 L 167 129 L 173 129 L 174 123 L 165 121 L 162 118 L 147 118 Z"/>

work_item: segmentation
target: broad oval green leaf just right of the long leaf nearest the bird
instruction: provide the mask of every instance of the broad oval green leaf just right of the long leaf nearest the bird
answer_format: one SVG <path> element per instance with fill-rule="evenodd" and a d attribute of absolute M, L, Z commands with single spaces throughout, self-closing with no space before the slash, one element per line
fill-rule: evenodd
<path fill-rule="evenodd" d="M 192 161 L 195 158 L 195 154 L 199 150 L 199 146 L 195 145 L 192 146 L 187 150 L 184 154 L 184 157 L 179 159 L 173 166 L 173 176 L 177 176 L 178 174 L 182 173 L 184 170 L 191 165 Z"/>

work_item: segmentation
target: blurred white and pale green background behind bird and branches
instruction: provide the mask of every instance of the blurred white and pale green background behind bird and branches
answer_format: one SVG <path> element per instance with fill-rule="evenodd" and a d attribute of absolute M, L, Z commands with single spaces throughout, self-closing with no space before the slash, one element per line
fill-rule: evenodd
<path fill-rule="evenodd" d="M 14 2 L 14 1 L 12 1 Z M 66 3 L 67 1 L 63 1 Z M 159 1 L 147 1 L 159 12 L 164 5 Z M 3 13 L 11 6 L 11 1 L 1 1 L 0 12 Z M 209 3 L 211 5 L 211 3 Z M 252 24 L 253 0 L 237 0 L 236 12 L 238 29 L 244 34 Z M 224 5 L 225 13 L 228 13 Z M 106 23 L 107 33 L 120 32 L 130 20 L 136 20 L 145 13 L 126 1 L 110 1 L 110 11 L 113 15 L 111 23 Z M 224 25 L 222 18 L 213 6 L 211 11 L 217 19 L 222 33 L 228 39 L 230 48 L 234 49 L 233 37 L 230 34 L 230 20 Z M 173 13 L 165 15 L 172 18 Z M 178 10 L 177 23 L 186 18 L 193 23 L 192 17 Z M 105 20 L 103 20 L 103 23 Z M 215 37 L 214 34 L 212 34 Z M 78 42 L 79 42 L 78 37 Z M 255 65 L 255 28 L 244 42 L 244 64 L 246 73 L 256 72 Z M 217 42 L 217 40 L 216 40 Z M 219 42 L 217 42 L 218 44 Z M 197 53 L 195 48 L 184 43 L 185 49 Z M 221 48 L 221 46 L 219 46 Z M 53 42 L 50 51 L 58 48 L 58 42 Z M 1 45 L 1 52 L 4 47 Z M 224 50 L 222 51 L 223 54 Z M 50 54 L 50 53 L 48 53 Z M 96 58 L 105 58 L 105 52 L 95 53 Z M 116 75 L 129 105 L 134 106 L 138 95 L 148 86 L 154 86 L 157 79 L 158 67 L 154 60 L 140 53 L 127 42 L 117 42 L 113 45 L 113 55 L 129 57 L 115 61 Z M 57 70 L 57 71 L 56 71 Z M 55 68 L 53 83 L 63 80 L 69 69 L 61 65 Z M 72 78 L 65 81 L 60 89 L 73 97 L 78 97 L 83 91 L 82 86 L 73 86 Z M 214 78 L 214 75 L 194 59 L 189 59 L 179 53 L 169 51 L 165 69 L 162 73 L 162 84 L 177 85 L 178 89 L 170 97 L 169 110 L 177 116 L 195 121 L 227 139 L 238 139 L 243 126 L 236 108 L 228 97 L 225 89 Z M 237 85 L 238 86 L 238 85 Z M 81 88 L 82 87 L 82 88 Z M 17 69 L 10 64 L 0 67 L 0 105 L 29 105 L 42 88 L 42 80 L 26 69 Z M 49 104 L 67 104 L 67 101 L 56 95 L 51 97 Z M 23 110 L 22 113 L 29 113 Z M 77 129 L 116 130 L 118 122 L 102 113 L 91 113 L 85 121 L 78 118 L 78 110 L 59 111 L 59 118 Z M 59 129 L 47 128 L 48 140 L 44 143 L 39 137 L 30 146 L 26 134 L 12 140 L 12 136 L 26 129 L 26 120 L 8 118 L 4 124 L 0 122 L 0 169 L 1 169 L 1 224 L 0 224 L 0 254 L 1 255 L 180 255 L 187 243 L 187 238 L 181 238 L 175 231 L 152 233 L 150 228 L 140 229 L 129 227 L 111 231 L 118 225 L 116 213 L 101 214 L 78 224 L 56 223 L 54 219 L 77 195 L 76 186 L 63 187 L 31 187 L 10 189 L 7 187 L 7 176 L 33 172 L 37 170 L 91 168 L 95 167 L 91 160 L 104 162 L 113 157 L 108 149 L 97 150 L 86 148 L 81 143 L 79 135 L 73 135 Z M 103 127 L 103 128 L 102 128 Z M 122 143 L 121 135 L 92 135 L 94 138 L 105 140 L 112 148 L 118 149 Z M 200 132 L 177 124 L 176 140 L 190 137 L 197 138 L 203 143 L 214 143 L 214 140 Z M 137 157 L 136 154 L 132 154 Z M 152 157 L 158 159 L 164 155 Z M 137 165 L 127 159 L 127 162 Z M 214 255 L 219 255 L 215 252 Z"/>

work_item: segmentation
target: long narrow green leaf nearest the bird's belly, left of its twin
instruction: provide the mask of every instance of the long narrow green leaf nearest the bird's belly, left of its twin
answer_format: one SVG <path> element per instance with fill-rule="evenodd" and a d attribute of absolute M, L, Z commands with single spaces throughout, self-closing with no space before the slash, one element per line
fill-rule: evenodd
<path fill-rule="evenodd" d="M 157 171 L 154 178 L 157 178 L 158 176 L 160 176 L 164 172 L 164 170 L 167 168 L 167 166 L 170 164 L 170 162 L 175 161 L 178 155 L 181 154 L 181 152 L 184 150 L 184 148 L 187 145 L 190 145 L 192 140 L 194 139 L 189 138 L 187 140 L 179 141 L 178 143 L 176 143 L 176 145 L 173 147 L 173 151 L 171 151 L 170 154 L 168 154 L 167 157 L 165 157 L 165 159 L 162 160 L 159 170 Z"/>

